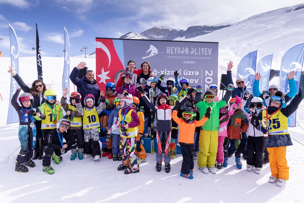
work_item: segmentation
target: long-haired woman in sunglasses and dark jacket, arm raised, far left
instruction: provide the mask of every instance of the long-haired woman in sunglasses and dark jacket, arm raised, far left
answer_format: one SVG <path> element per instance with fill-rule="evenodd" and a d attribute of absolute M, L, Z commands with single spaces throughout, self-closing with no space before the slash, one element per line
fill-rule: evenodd
<path fill-rule="evenodd" d="M 12 70 L 12 67 L 9 66 L 8 72 L 13 75 L 13 78 L 16 80 L 18 85 L 21 87 L 22 91 L 25 93 L 30 93 L 33 96 L 33 107 L 38 108 L 42 103 L 45 102 L 43 94 L 44 91 L 47 90 L 44 82 L 42 80 L 35 80 L 32 83 L 32 87 L 28 87 L 23 80 L 21 79 L 20 75 L 15 74 Z M 35 159 L 43 159 L 43 151 L 42 151 L 42 144 L 43 144 L 43 137 L 41 132 L 41 120 L 36 121 L 36 145 L 34 149 L 33 160 Z"/>

